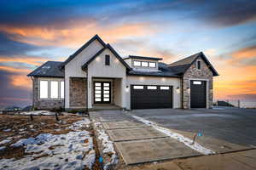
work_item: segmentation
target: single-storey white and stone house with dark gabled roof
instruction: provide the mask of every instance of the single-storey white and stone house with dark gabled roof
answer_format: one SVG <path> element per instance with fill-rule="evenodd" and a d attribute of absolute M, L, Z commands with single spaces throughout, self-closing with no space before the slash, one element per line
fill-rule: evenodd
<path fill-rule="evenodd" d="M 93 109 L 116 105 L 127 110 L 211 108 L 212 77 L 203 53 L 172 64 L 160 58 L 121 58 L 99 36 L 64 62 L 47 61 L 32 71 L 32 105 L 38 109 Z"/>

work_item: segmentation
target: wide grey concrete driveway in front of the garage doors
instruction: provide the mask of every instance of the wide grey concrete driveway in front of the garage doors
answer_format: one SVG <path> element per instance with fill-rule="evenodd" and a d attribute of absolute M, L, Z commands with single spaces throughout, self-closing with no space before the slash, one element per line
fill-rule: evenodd
<path fill-rule="evenodd" d="M 256 147 L 256 110 L 216 108 L 212 110 L 135 110 L 132 115 L 156 122 L 218 153 Z"/>

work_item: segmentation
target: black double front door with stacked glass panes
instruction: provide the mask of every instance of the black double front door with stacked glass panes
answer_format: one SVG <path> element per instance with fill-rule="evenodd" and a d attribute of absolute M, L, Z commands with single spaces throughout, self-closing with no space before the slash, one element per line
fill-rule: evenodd
<path fill-rule="evenodd" d="M 94 82 L 94 103 L 110 104 L 111 82 Z"/>

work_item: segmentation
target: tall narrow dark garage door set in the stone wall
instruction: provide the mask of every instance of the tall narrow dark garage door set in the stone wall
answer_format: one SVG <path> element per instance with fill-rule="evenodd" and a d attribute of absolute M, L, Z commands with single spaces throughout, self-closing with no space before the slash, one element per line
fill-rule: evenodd
<path fill-rule="evenodd" d="M 190 107 L 191 108 L 206 108 L 207 99 L 207 82 L 205 81 L 190 81 Z"/>

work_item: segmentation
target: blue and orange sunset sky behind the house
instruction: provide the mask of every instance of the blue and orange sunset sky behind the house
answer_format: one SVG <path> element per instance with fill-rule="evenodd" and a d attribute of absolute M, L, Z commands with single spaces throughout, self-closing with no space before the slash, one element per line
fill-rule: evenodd
<path fill-rule="evenodd" d="M 26 74 L 95 34 L 121 56 L 172 63 L 202 51 L 220 75 L 214 99 L 256 102 L 256 1 L 2 0 L 0 106 L 31 105 Z"/>

